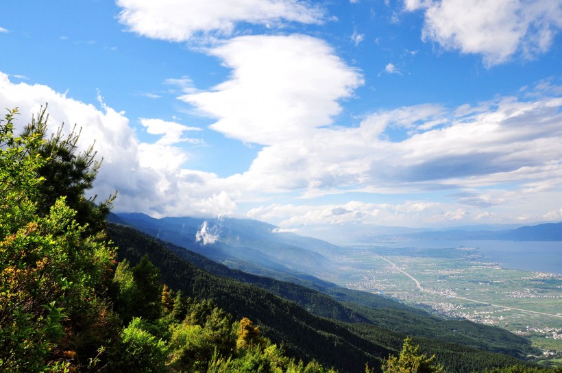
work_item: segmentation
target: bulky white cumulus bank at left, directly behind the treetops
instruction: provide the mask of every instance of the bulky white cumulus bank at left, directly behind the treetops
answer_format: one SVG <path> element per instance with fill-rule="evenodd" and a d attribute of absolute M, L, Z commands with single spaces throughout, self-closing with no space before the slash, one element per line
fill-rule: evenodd
<path fill-rule="evenodd" d="M 85 149 L 95 141 L 95 149 L 103 156 L 93 193 L 104 198 L 119 190 L 117 211 L 140 211 L 155 216 L 217 216 L 236 210 L 236 204 L 215 174 L 181 168 L 186 154 L 172 143 L 182 141 L 181 133 L 193 128 L 159 120 L 145 121 L 149 131 L 164 136 L 160 143 L 140 143 L 125 114 L 103 101 L 101 108 L 97 108 L 48 86 L 14 84 L 3 73 L 0 73 L 0 101 L 6 108 L 19 107 L 17 132 L 45 103 L 49 104 L 51 131 L 62 123 L 66 123 L 66 133 L 74 123 L 82 128 L 80 148 Z"/>

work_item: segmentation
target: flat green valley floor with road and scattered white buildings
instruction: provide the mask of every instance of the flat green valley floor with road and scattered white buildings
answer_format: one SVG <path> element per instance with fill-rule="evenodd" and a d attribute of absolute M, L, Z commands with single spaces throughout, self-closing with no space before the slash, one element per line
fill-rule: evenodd
<path fill-rule="evenodd" d="M 453 319 L 506 328 L 562 357 L 562 276 L 504 269 L 476 248 L 348 247 L 338 279 Z"/>

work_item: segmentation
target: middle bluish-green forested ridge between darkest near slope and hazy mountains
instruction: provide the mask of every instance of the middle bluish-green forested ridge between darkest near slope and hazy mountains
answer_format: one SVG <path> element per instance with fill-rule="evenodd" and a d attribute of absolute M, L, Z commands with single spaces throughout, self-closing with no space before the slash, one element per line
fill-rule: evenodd
<path fill-rule="evenodd" d="M 164 244 L 178 256 L 207 272 L 256 285 L 282 298 L 296 302 L 315 315 L 343 322 L 374 324 L 398 333 L 435 338 L 440 341 L 484 348 L 519 357 L 523 357 L 524 351 L 529 347 L 526 339 L 504 329 L 466 320 L 445 320 L 389 298 L 365 291 L 337 287 L 329 282 L 327 287 L 312 284 L 313 289 L 310 289 L 293 282 L 247 274 L 210 261 L 204 256 L 173 245 L 173 243 Z"/>

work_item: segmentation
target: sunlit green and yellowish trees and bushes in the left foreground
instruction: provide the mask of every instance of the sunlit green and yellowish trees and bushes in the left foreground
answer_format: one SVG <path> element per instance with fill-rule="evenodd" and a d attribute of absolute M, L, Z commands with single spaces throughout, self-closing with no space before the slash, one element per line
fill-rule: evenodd
<path fill-rule="evenodd" d="M 46 139 L 40 110 L 0 126 L 2 372 L 324 372 L 285 357 L 258 326 L 160 282 L 147 256 L 115 268 L 112 198 L 86 199 L 99 163 L 78 134 Z"/>

